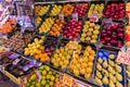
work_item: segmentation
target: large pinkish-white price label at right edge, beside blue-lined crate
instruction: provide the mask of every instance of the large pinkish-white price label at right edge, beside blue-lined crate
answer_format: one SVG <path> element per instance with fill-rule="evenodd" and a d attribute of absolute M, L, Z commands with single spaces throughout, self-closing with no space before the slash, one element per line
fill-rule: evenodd
<path fill-rule="evenodd" d="M 119 51 L 117 62 L 130 65 L 130 52 Z"/>

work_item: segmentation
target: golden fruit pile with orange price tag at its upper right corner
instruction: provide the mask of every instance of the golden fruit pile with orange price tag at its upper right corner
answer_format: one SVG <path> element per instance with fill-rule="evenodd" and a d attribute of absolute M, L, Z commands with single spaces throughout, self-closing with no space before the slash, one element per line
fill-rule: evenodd
<path fill-rule="evenodd" d="M 66 46 L 65 44 L 61 44 L 62 46 L 56 49 L 51 63 L 56 66 L 56 67 L 61 67 L 66 69 L 69 64 L 69 61 L 72 59 L 73 52 L 75 51 L 75 49 L 79 49 L 81 48 L 77 41 L 69 41 Z M 77 48 L 72 48 L 75 45 L 75 47 Z"/>

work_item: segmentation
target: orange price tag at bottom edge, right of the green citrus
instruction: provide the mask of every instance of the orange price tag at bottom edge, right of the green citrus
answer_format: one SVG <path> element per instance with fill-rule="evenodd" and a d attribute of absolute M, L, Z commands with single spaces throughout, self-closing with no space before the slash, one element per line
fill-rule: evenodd
<path fill-rule="evenodd" d="M 64 75 L 63 75 L 63 83 L 64 83 L 65 85 L 72 87 L 72 86 L 73 86 L 73 80 L 74 80 L 74 79 L 73 79 L 72 76 L 69 76 L 69 75 L 67 75 L 67 74 L 64 74 Z"/>

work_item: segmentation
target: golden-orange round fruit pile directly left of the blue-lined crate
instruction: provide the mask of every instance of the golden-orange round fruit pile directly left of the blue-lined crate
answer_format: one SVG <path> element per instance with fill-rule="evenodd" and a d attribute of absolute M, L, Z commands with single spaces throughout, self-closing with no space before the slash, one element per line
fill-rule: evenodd
<path fill-rule="evenodd" d="M 75 55 L 69 65 L 70 72 L 73 72 L 76 76 L 83 76 L 86 79 L 92 77 L 95 50 L 92 49 L 91 46 L 87 46 L 84 50 L 82 50 L 82 57 L 80 57 L 81 48 L 75 51 Z"/>

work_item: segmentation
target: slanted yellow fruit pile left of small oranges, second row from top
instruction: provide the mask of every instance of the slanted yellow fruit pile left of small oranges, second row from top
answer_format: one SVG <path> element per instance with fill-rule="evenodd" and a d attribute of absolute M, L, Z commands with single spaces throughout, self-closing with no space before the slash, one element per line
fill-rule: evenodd
<path fill-rule="evenodd" d="M 41 24 L 41 26 L 39 28 L 39 34 L 48 33 L 51 29 L 51 27 L 53 26 L 53 24 L 54 24 L 53 17 L 46 18 L 46 21 Z"/>

